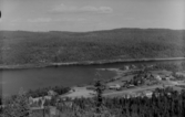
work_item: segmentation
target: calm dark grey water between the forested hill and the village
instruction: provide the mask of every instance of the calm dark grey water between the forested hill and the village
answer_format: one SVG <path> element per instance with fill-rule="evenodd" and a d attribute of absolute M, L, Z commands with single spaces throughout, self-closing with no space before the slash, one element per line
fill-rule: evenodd
<path fill-rule="evenodd" d="M 177 62 L 177 61 L 171 61 Z M 178 61 L 179 62 L 179 61 Z M 74 86 L 80 84 L 92 83 L 95 78 L 96 68 L 120 68 L 127 64 L 154 64 L 156 62 L 140 63 L 113 63 L 104 65 L 73 65 L 30 70 L 1 70 L 1 85 L 3 95 L 17 94 L 22 87 L 23 89 L 34 89 L 47 86 Z M 158 63 L 158 62 L 157 62 Z M 164 62 L 163 62 L 164 63 Z M 111 78 L 115 73 L 104 71 L 101 72 L 102 78 Z"/>

